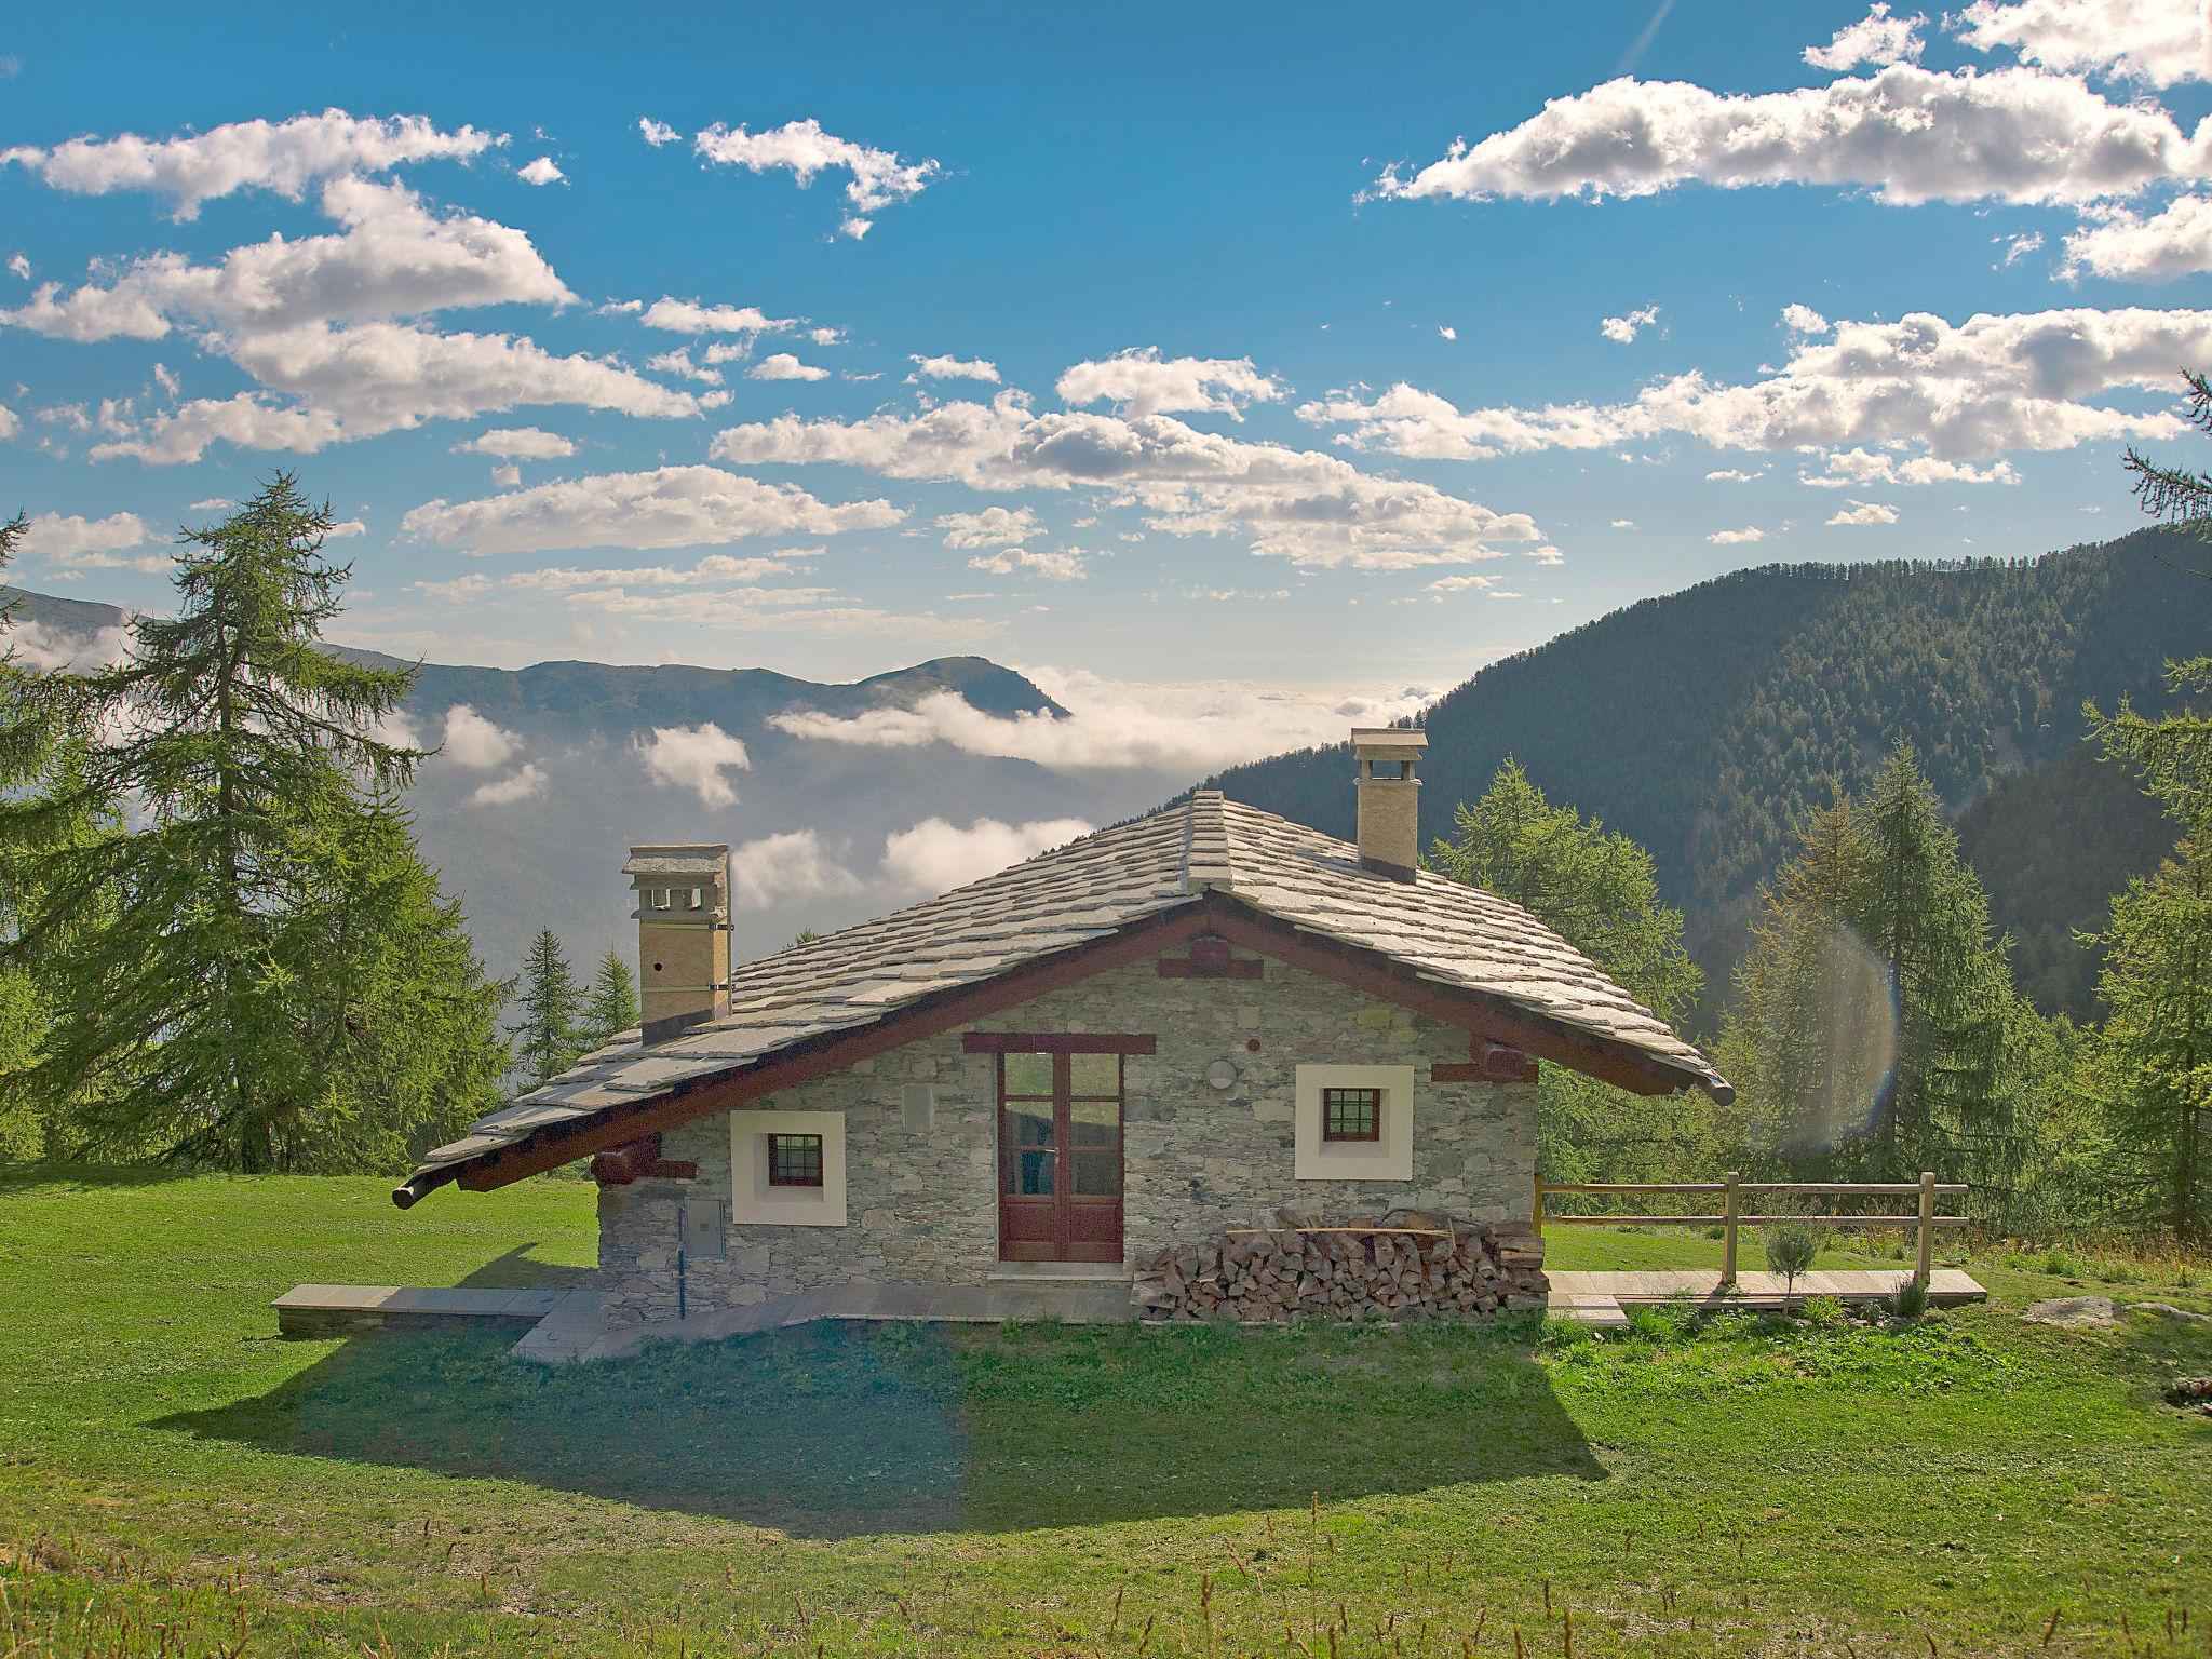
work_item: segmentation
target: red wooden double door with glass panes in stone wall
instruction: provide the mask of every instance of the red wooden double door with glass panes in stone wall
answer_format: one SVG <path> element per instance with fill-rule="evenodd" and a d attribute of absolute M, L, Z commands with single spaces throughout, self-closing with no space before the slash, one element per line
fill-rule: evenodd
<path fill-rule="evenodd" d="M 998 1057 L 1000 1261 L 1121 1261 L 1121 1055 Z"/>

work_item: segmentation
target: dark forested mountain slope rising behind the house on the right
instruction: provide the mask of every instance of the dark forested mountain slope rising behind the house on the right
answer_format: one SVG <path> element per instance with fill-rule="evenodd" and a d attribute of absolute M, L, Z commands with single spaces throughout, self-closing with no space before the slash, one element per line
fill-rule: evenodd
<path fill-rule="evenodd" d="M 2159 553 L 2201 549 L 2141 531 L 2042 560 L 1765 566 L 1628 606 L 1429 710 L 1422 832 L 1517 757 L 1551 799 L 1650 847 L 1692 949 L 1725 971 L 1796 825 L 1898 737 L 1964 807 L 2079 745 L 2084 699 L 2163 706 L 2163 661 L 2212 650 L 2212 582 Z M 1219 783 L 1349 834 L 1349 776 L 1334 745 Z"/>

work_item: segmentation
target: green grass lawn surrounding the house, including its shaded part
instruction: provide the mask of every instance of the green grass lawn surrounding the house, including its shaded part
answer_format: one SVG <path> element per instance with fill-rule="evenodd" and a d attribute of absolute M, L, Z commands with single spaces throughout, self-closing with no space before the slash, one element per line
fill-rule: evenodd
<path fill-rule="evenodd" d="M 274 1336 L 296 1281 L 560 1281 L 591 1210 L 0 1179 L 0 1655 L 2212 1650 L 2212 1418 L 2159 1398 L 2212 1327 L 2017 1316 L 2203 1279 L 2000 1259 L 1898 1332 L 821 1325 L 551 1374 Z"/>

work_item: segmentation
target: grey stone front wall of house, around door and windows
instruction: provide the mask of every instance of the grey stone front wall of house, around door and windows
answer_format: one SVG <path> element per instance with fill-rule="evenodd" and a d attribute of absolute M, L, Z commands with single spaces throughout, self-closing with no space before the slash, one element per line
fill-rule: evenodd
<path fill-rule="evenodd" d="M 1261 980 L 1164 980 L 1150 960 L 1051 991 L 973 1031 L 1152 1033 L 1124 1075 L 1124 1245 L 1130 1261 L 1265 1219 L 1276 1206 L 1378 1217 L 1418 1206 L 1522 1217 L 1535 1170 L 1535 1088 L 1431 1084 L 1467 1060 L 1467 1033 L 1334 980 L 1265 962 Z M 1206 1079 L 1237 1068 L 1230 1088 Z M 1298 1181 L 1301 1064 L 1411 1064 L 1413 1179 Z M 911 1091 L 929 1091 L 916 1121 Z M 843 1283 L 978 1283 L 998 1263 L 995 1066 L 960 1033 L 757 1102 L 845 1117 L 847 1225 L 732 1223 L 723 1254 L 688 1252 L 688 1307 L 706 1312 Z M 697 1181 L 599 1190 L 599 1290 L 617 1318 L 672 1318 L 679 1206 L 730 1197 L 730 1117 L 670 1130 L 661 1157 Z M 719 1214 L 719 1212 L 717 1212 Z"/>

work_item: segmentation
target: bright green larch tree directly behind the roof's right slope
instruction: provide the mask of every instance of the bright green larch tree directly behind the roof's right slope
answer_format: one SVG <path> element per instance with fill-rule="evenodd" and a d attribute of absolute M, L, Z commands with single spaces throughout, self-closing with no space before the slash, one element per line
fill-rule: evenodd
<path fill-rule="evenodd" d="M 1677 1020 L 1703 989 L 1650 854 L 1546 801 L 1517 761 L 1453 812 L 1427 865 L 1526 907 L 1661 1020 Z M 1555 1181 L 1679 1175 L 1710 1164 L 1710 1135 L 1701 1097 L 1641 1097 L 1564 1066 L 1540 1071 L 1537 1164 Z"/>

